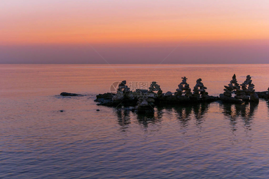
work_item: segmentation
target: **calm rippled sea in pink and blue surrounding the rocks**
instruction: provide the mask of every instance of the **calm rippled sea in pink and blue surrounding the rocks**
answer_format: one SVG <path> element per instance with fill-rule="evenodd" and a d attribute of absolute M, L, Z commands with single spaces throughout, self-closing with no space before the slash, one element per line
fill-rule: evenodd
<path fill-rule="evenodd" d="M 183 76 L 219 95 L 234 73 L 239 83 L 251 75 L 256 91 L 269 87 L 265 64 L 0 65 L 0 178 L 268 178 L 264 100 L 166 106 L 152 116 L 94 102 L 114 81 L 175 92 Z"/>

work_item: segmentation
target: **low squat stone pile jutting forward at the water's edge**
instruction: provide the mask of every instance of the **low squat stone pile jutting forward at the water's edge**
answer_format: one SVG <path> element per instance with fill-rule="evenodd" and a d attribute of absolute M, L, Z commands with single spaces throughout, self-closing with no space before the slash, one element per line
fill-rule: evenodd
<path fill-rule="evenodd" d="M 137 113 L 152 113 L 154 112 L 154 99 L 146 96 L 138 98 L 137 105 L 134 107 Z"/>

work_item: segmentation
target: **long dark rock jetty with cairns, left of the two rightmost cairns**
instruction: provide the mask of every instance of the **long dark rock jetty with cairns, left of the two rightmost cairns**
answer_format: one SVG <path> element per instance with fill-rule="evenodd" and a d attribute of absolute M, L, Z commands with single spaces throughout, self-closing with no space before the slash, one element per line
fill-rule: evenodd
<path fill-rule="evenodd" d="M 165 94 L 162 93 L 160 85 L 155 81 L 151 83 L 149 90 L 136 89 L 135 91 L 129 91 L 128 87 L 125 85 L 126 81 L 122 81 L 116 94 L 99 94 L 96 96 L 95 101 L 99 102 L 97 105 L 115 107 L 135 106 L 134 110 L 137 113 L 152 113 L 154 111 L 153 107 L 156 105 L 210 103 L 219 99 L 217 96 L 208 95 L 201 79 L 196 81 L 200 94 L 198 96 L 193 95 L 186 80 L 186 77 L 182 77 L 182 82 L 178 85 L 179 88 L 176 89 L 174 95 L 170 91 Z M 155 91 L 157 91 L 157 93 L 155 93 Z"/>

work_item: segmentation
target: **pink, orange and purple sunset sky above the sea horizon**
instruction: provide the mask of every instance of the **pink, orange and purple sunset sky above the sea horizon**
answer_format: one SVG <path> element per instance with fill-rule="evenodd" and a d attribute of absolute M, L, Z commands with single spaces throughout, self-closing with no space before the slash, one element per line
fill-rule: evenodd
<path fill-rule="evenodd" d="M 266 0 L 0 3 L 0 63 L 269 62 Z"/>

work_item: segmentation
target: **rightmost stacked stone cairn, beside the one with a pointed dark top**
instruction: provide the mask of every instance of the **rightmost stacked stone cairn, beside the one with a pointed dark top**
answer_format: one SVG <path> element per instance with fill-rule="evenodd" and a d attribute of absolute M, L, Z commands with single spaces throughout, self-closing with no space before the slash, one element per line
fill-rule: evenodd
<path fill-rule="evenodd" d="M 237 89 L 235 92 L 235 98 L 237 99 L 242 99 L 242 100 L 249 100 L 249 95 L 251 93 L 254 93 L 254 84 L 251 83 L 251 76 L 247 75 L 246 76 L 246 80 L 244 81 L 244 83 L 242 83 L 241 86 L 241 90 Z M 248 85 L 248 87 L 247 87 Z"/>

